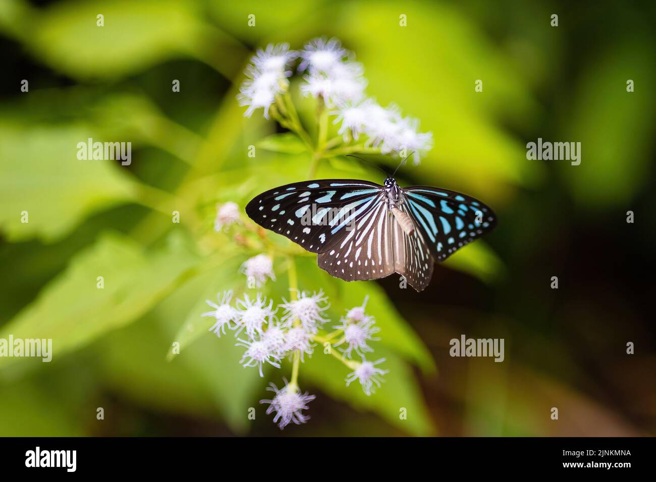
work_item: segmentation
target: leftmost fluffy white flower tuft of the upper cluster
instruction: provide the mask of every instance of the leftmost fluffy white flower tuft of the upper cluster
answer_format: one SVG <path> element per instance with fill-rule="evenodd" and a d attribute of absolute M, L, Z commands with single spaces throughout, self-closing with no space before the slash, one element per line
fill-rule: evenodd
<path fill-rule="evenodd" d="M 252 64 L 246 68 L 249 77 L 239 88 L 237 100 L 240 106 L 248 106 L 244 115 L 251 117 L 256 109 L 264 108 L 264 118 L 269 118 L 269 108 L 276 100 L 276 94 L 289 87 L 287 70 L 289 62 L 297 57 L 297 52 L 289 50 L 289 44 L 269 44 L 258 50 L 251 58 Z"/>

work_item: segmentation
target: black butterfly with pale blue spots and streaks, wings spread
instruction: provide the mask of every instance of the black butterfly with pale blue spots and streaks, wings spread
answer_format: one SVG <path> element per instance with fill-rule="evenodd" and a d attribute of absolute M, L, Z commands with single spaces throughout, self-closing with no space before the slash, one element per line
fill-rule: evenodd
<path fill-rule="evenodd" d="M 295 182 L 253 198 L 257 224 L 318 253 L 319 268 L 346 281 L 399 273 L 422 291 L 443 261 L 491 231 L 494 212 L 478 199 L 430 186 L 401 188 L 353 179 Z"/>

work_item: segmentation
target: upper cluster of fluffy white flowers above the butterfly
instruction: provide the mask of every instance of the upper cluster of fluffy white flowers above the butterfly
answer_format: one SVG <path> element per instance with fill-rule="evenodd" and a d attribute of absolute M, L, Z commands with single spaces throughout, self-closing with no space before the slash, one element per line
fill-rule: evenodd
<path fill-rule="evenodd" d="M 362 64 L 334 38 L 312 39 L 298 52 L 289 50 L 286 43 L 258 50 L 238 96 L 241 105 L 248 106 L 245 115 L 250 117 L 256 109 L 264 108 L 264 117 L 269 118 L 270 107 L 277 98 L 289 95 L 290 66 L 296 58 L 300 58 L 297 71 L 302 74 L 300 91 L 316 98 L 319 106 L 331 109 L 327 114 L 335 117 L 333 124 L 340 125 L 337 133 L 343 138 L 342 148 L 348 148 L 348 152 L 373 150 L 404 159 L 414 155 L 414 162 L 419 163 L 421 155 L 432 148 L 432 133 L 419 132 L 418 119 L 403 117 L 394 104 L 382 107 L 367 97 Z M 302 129 L 285 120 L 284 111 L 274 117 L 285 127 Z M 362 144 L 352 144 L 361 136 L 366 136 Z"/>

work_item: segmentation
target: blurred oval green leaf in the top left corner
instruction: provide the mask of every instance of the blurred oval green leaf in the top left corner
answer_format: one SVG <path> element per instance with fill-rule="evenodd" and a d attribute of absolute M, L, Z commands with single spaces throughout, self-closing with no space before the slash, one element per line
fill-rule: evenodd
<path fill-rule="evenodd" d="M 104 26 L 96 25 L 100 14 Z M 122 77 L 184 56 L 201 30 L 190 3 L 171 0 L 62 1 L 22 20 L 29 50 L 80 79 Z"/>

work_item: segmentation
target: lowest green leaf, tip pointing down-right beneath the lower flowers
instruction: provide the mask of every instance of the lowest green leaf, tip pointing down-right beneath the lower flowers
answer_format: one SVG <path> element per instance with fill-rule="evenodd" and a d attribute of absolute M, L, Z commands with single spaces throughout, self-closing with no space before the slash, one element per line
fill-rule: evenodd
<path fill-rule="evenodd" d="M 435 435 L 436 429 L 409 365 L 392 351 L 377 347 L 375 355 L 371 355 L 370 359 L 375 361 L 380 358 L 385 358 L 385 361 L 377 367 L 389 372 L 383 376 L 385 381 L 382 386 L 368 396 L 357 380 L 347 387 L 344 379 L 351 370 L 332 355 L 324 354 L 321 347 L 318 347 L 312 358 L 300 366 L 301 388 L 306 390 L 307 387 L 302 383 L 307 380 L 334 399 L 345 401 L 358 410 L 375 412 L 406 433 Z M 401 418 L 403 411 L 407 414 L 405 420 Z"/>

